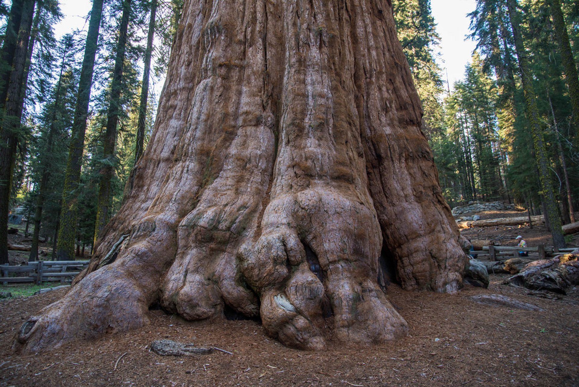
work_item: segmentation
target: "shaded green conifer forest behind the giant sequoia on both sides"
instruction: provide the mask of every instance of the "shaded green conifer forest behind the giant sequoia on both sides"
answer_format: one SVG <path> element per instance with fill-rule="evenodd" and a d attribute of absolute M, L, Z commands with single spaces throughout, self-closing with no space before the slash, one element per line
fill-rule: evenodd
<path fill-rule="evenodd" d="M 503 200 L 540 214 L 551 205 L 563 223 L 575 221 L 579 3 L 477 0 L 477 50 L 452 87 L 430 1 L 393 6 L 450 206 Z M 9 212 L 27 220 L 31 260 L 39 239 L 56 259 L 90 250 L 151 133 L 159 96 L 149 83 L 164 79 L 181 8 L 182 0 L 94 0 L 88 30 L 57 40 L 58 0 L 1 3 L 0 263 Z"/>

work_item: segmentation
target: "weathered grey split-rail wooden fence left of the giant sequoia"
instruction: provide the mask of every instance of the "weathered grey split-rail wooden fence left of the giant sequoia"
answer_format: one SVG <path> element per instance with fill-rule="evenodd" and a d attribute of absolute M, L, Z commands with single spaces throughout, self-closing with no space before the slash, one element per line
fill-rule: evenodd
<path fill-rule="evenodd" d="M 46 281 L 60 281 L 61 283 L 72 281 L 82 271 L 89 266 L 90 261 L 34 261 L 27 265 L 10 266 L 0 265 L 2 277 L 0 282 L 7 285 L 10 283 L 34 282 L 40 284 Z M 16 273 L 17 276 L 10 276 Z"/>

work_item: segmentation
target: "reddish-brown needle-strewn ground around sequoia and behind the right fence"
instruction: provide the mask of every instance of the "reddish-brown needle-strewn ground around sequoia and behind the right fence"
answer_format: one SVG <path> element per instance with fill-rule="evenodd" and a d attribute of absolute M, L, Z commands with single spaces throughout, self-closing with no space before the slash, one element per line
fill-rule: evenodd
<path fill-rule="evenodd" d="M 492 227 L 463 234 L 494 236 L 504 245 L 516 244 L 516 235 L 523 235 L 529 246 L 550 244 L 544 227 L 542 234 L 540 230 Z M 152 310 L 151 324 L 130 333 L 21 355 L 11 349 L 21 323 L 67 289 L 9 298 L 0 300 L 0 386 L 579 385 L 579 287 L 566 295 L 532 292 L 503 284 L 507 278 L 491 275 L 489 289 L 466 286 L 457 294 L 417 293 L 390 284 L 387 297 L 408 322 L 408 337 L 364 346 L 329 338 L 321 352 L 285 348 L 253 320 L 186 322 Z M 469 299 L 478 294 L 506 295 L 544 311 Z M 233 355 L 155 355 L 151 342 L 164 338 L 215 346 Z"/>

